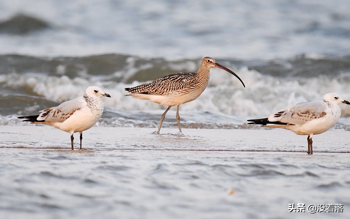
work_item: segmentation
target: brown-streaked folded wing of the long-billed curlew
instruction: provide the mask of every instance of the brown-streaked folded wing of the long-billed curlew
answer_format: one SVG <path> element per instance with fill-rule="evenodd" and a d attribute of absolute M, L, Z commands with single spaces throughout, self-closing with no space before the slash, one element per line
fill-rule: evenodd
<path fill-rule="evenodd" d="M 125 88 L 125 90 L 131 94 L 141 93 L 148 95 L 168 95 L 169 93 L 182 92 L 186 89 L 190 89 L 191 84 L 194 84 L 194 74 L 195 73 L 177 73 L 167 75 L 133 88 Z"/>

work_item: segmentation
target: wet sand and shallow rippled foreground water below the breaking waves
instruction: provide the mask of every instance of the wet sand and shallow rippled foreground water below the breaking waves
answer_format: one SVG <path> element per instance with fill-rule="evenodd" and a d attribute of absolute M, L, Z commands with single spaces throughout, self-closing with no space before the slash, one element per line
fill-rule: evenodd
<path fill-rule="evenodd" d="M 349 135 L 93 127 L 83 151 L 48 126 L 1 126 L 5 218 L 348 218 Z M 168 133 L 168 134 L 167 134 Z M 76 138 L 78 139 L 78 138 Z M 78 147 L 78 141 L 76 141 Z M 79 152 L 78 152 L 79 151 Z M 78 153 L 77 153 L 78 152 Z M 89 153 L 85 153 L 89 152 Z M 288 212 L 288 204 L 344 212 Z"/>

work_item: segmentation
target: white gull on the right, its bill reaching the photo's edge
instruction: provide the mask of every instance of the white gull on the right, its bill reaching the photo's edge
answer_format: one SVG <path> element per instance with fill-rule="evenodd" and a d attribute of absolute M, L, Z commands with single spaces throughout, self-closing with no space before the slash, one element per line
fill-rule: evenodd
<path fill-rule="evenodd" d="M 247 120 L 248 124 L 283 128 L 297 135 L 308 135 L 308 154 L 312 154 L 312 136 L 324 133 L 337 123 L 341 116 L 339 104 L 350 104 L 336 93 L 327 93 L 323 100 L 299 103 L 273 113 L 268 118 Z M 269 125 L 268 125 L 269 124 Z"/>

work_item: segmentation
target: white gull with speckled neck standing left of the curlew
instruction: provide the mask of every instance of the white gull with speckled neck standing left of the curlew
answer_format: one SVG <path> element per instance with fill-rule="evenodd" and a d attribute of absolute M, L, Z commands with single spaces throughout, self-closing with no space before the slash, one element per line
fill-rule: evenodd
<path fill-rule="evenodd" d="M 80 133 L 80 150 L 82 149 L 83 131 L 91 128 L 103 113 L 103 102 L 101 97 L 111 97 L 102 91 L 98 86 L 86 88 L 85 94 L 62 104 L 51 107 L 38 115 L 20 116 L 19 119 L 26 119 L 23 122 L 47 124 L 71 134 L 73 148 L 73 133 Z"/>

